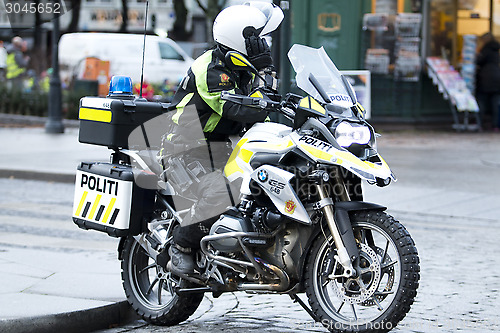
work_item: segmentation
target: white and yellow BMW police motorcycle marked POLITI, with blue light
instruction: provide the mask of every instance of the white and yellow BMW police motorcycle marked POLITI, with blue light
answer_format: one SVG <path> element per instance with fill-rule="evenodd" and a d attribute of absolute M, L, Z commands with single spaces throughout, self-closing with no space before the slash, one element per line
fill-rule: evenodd
<path fill-rule="evenodd" d="M 239 138 L 224 169 L 241 184 L 237 214 L 221 214 L 201 240 L 200 274 L 167 269 L 173 228 L 189 211 L 169 178 L 193 181 L 195 174 L 158 167 L 161 142 L 154 140 L 168 105 L 135 99 L 123 77 L 112 80 L 107 98 L 81 100 L 80 141 L 113 153 L 110 163 L 78 167 L 73 220 L 120 237 L 125 294 L 144 320 L 176 325 L 205 292 L 288 294 L 331 332 L 387 332 L 410 310 L 419 281 L 415 244 L 386 207 L 362 201 L 352 186 L 396 180 L 377 152 L 377 135 L 323 48 L 294 45 L 288 56 L 306 97 L 275 101 L 265 89 L 222 97 L 279 112 L 292 125 L 258 123 Z M 226 60 L 259 75 L 237 52 Z"/>

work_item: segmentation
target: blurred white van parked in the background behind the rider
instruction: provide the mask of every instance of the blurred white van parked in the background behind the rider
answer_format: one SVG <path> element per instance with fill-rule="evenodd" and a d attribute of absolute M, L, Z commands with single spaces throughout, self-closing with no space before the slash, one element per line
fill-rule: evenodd
<path fill-rule="evenodd" d="M 78 32 L 65 34 L 59 41 L 61 78 L 78 76 L 87 57 L 110 61 L 110 76 L 126 75 L 141 80 L 143 35 Z M 193 58 L 169 38 L 146 36 L 144 80 L 178 83 L 186 75 Z"/>

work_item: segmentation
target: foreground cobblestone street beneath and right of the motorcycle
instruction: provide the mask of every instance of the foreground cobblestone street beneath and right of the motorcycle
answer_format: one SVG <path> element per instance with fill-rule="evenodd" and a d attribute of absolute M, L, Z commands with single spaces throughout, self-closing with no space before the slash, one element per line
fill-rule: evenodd
<path fill-rule="evenodd" d="M 500 225 L 469 220 L 405 223 L 421 258 L 421 284 L 410 313 L 393 332 L 499 332 Z M 208 295 L 208 294 L 207 294 Z M 301 295 L 305 300 L 305 295 Z M 285 295 L 207 296 L 174 327 L 137 321 L 103 332 L 325 332 Z"/>

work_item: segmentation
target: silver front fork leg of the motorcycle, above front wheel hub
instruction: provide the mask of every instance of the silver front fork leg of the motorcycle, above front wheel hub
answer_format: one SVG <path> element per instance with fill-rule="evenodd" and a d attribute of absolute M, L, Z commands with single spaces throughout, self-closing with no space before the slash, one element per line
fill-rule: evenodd
<path fill-rule="evenodd" d="M 336 171 L 332 179 L 332 184 L 335 186 L 335 195 L 340 201 L 350 201 L 344 180 L 339 174 L 339 170 Z M 349 213 L 345 209 L 334 209 L 334 202 L 328 196 L 324 184 L 318 182 L 316 190 L 320 199 L 316 204 L 316 208 L 322 210 L 333 236 L 333 241 L 337 249 L 337 259 L 344 268 L 342 275 L 345 277 L 354 276 L 356 275 L 356 270 L 353 267 L 353 263 L 358 259 L 359 251 L 356 239 L 354 238 Z"/>

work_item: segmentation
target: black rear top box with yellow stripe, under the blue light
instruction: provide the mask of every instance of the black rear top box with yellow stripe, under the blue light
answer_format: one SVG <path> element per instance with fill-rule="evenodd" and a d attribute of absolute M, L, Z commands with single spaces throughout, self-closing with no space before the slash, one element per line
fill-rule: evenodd
<path fill-rule="evenodd" d="M 79 141 L 112 149 L 129 147 L 130 133 L 168 111 L 169 104 L 133 99 L 84 97 L 80 100 Z M 158 138 L 159 139 L 159 138 Z M 153 147 L 157 142 L 150 142 Z"/>

